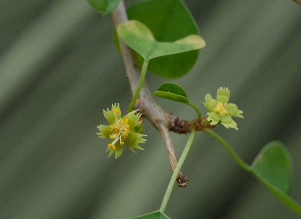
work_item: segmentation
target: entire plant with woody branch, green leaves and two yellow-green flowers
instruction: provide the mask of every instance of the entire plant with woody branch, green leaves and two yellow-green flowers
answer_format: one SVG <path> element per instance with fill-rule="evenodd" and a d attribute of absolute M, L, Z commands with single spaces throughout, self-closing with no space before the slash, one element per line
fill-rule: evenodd
<path fill-rule="evenodd" d="M 145 135 L 137 133 L 141 124 L 141 116 L 151 121 L 157 128 L 167 151 L 172 167 L 172 177 L 158 211 L 137 218 L 168 218 L 163 212 L 166 209 L 175 182 L 180 187 L 187 186 L 188 177 L 180 171 L 182 164 L 194 142 L 197 131 L 209 134 L 225 149 L 234 160 L 247 172 L 256 177 L 269 191 L 284 202 L 288 207 L 301 215 L 301 207 L 288 196 L 291 181 L 290 155 L 282 142 L 272 141 L 265 145 L 252 165 L 245 163 L 231 146 L 213 129 L 218 125 L 238 130 L 233 117 L 243 118 L 243 111 L 237 105 L 229 102 L 230 90 L 210 83 L 217 89 L 216 99 L 210 94 L 203 94 L 202 102 L 206 114 L 202 117 L 200 109 L 190 100 L 185 90 L 175 83 L 163 83 L 154 94 L 160 98 L 182 102 L 191 106 L 197 112 L 197 118 L 191 121 L 181 120 L 177 123 L 175 117 L 165 112 L 151 96 L 144 84 L 147 69 L 161 77 L 181 77 L 194 65 L 198 50 L 206 43 L 198 35 L 195 21 L 181 0 L 150 0 L 138 2 L 128 9 L 120 0 L 88 0 L 90 5 L 102 14 L 112 12 L 118 36 L 117 47 L 123 56 L 127 76 L 133 90 L 133 98 L 129 103 L 127 114 L 121 117 L 118 104 L 112 105 L 111 110 L 103 111 L 108 125 L 99 125 L 98 135 L 109 138 L 104 143 L 109 156 L 115 152 L 115 157 L 122 154 L 126 145 L 132 151 L 142 149 L 138 144 L 144 143 Z M 117 7 L 118 6 L 118 7 Z M 160 9 L 160 10 L 159 10 Z M 114 10 L 114 11 L 113 11 Z M 127 15 L 130 20 L 127 19 Z M 147 16 L 151 15 L 151 17 Z M 174 16 L 177 15 L 177 16 Z M 168 20 L 168 25 L 166 25 Z M 181 27 L 181 28 L 179 28 Z M 117 39 L 116 36 L 116 39 Z M 112 86 L 114 86 L 112 84 Z M 114 100 L 118 102 L 118 100 Z M 239 104 L 238 104 L 239 105 Z M 190 133 L 180 159 L 177 161 L 172 149 L 169 131 Z M 147 130 L 146 130 L 147 133 Z M 134 151 L 135 152 L 135 151 Z"/>

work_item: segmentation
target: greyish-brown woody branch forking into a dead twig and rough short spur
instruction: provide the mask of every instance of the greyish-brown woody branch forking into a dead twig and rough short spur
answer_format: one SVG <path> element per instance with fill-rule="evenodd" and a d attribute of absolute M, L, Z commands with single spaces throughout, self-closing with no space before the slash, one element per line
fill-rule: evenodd
<path fill-rule="evenodd" d="M 112 12 L 112 15 L 115 27 L 128 20 L 123 0 L 120 1 L 116 10 Z M 134 94 L 139 82 L 141 67 L 137 63 L 135 53 L 123 41 L 121 41 L 120 38 L 118 38 L 118 41 L 126 67 L 127 78 L 131 86 L 132 94 Z M 170 166 L 172 171 L 174 171 L 178 162 L 175 156 L 175 150 L 172 144 L 172 139 L 169 135 L 169 131 L 188 133 L 190 132 L 191 126 L 193 126 L 195 130 L 201 130 L 204 127 L 205 117 L 203 117 L 201 120 L 186 121 L 179 119 L 176 116 L 172 116 L 157 104 L 146 82 L 144 82 L 142 86 L 140 96 L 135 104 L 135 108 L 139 108 L 139 112 L 142 113 L 142 116 L 146 117 L 151 124 L 153 124 L 153 126 L 159 130 L 168 153 Z M 213 126 L 206 125 L 206 127 Z M 188 181 L 188 178 L 182 175 L 180 171 L 177 181 L 178 186 L 184 187 L 187 186 L 186 181 Z"/>

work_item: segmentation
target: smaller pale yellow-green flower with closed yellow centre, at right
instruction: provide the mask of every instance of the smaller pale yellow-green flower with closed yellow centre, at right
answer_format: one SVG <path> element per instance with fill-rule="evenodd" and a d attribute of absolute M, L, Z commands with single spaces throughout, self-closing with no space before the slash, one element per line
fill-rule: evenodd
<path fill-rule="evenodd" d="M 241 113 L 243 111 L 237 109 L 237 105 L 234 103 L 228 103 L 230 97 L 230 91 L 227 88 L 220 87 L 217 90 L 216 99 L 212 99 L 212 96 L 208 93 L 205 96 L 205 101 L 203 104 L 207 107 L 207 120 L 211 121 L 211 125 L 218 124 L 221 121 L 227 129 L 234 128 L 238 130 L 236 122 L 232 119 L 232 117 L 240 117 L 244 118 Z"/>

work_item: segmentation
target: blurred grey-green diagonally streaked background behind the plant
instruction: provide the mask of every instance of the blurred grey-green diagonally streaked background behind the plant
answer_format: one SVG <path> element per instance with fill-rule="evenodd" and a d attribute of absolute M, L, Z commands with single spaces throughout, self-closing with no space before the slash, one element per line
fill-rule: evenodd
<path fill-rule="evenodd" d="M 126 5 L 135 1 L 126 1 Z M 301 6 L 289 0 L 186 0 L 207 45 L 182 78 L 200 107 L 231 90 L 239 131 L 217 127 L 251 163 L 267 142 L 293 158 L 291 196 L 301 203 Z M 171 169 L 160 134 L 145 122 L 144 151 L 107 158 L 96 135 L 102 109 L 131 99 L 113 45 L 111 15 L 86 1 L 5 1 L 0 9 L 0 218 L 130 218 L 159 209 Z M 147 74 L 155 91 L 166 80 Z M 186 105 L 156 98 L 168 112 Z M 188 135 L 171 133 L 177 157 Z M 182 168 L 166 214 L 183 218 L 299 218 L 204 133 Z"/>

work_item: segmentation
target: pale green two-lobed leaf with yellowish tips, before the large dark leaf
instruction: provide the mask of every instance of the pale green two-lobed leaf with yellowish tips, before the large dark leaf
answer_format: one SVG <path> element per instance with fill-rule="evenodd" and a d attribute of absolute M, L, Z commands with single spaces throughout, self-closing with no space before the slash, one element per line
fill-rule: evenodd
<path fill-rule="evenodd" d="M 118 36 L 145 60 L 203 48 L 206 43 L 198 35 L 189 35 L 175 42 L 156 41 L 151 30 L 138 20 L 129 20 L 117 27 Z"/>

